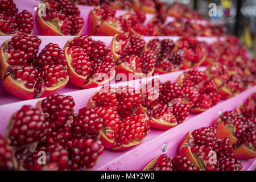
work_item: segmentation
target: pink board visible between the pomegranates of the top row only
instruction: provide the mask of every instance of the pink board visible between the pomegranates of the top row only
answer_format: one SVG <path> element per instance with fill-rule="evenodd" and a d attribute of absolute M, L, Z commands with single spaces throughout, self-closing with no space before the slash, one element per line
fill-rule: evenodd
<path fill-rule="evenodd" d="M 34 19 L 35 19 L 35 12 L 36 12 L 36 8 L 38 7 L 38 4 L 40 3 L 40 1 L 36 1 L 36 0 L 14 0 L 14 2 L 16 3 L 16 6 L 19 9 L 19 12 L 22 10 L 28 10 L 29 12 L 31 12 L 34 15 Z M 88 15 L 90 13 L 90 10 L 94 9 L 93 6 L 84 6 L 84 5 L 78 5 L 79 10 L 81 11 L 81 16 L 84 19 L 84 28 L 81 32 L 81 35 L 84 34 L 88 34 L 88 26 L 87 26 L 87 21 L 88 21 Z M 123 14 L 127 13 L 126 10 L 117 10 L 117 13 L 115 14 L 115 16 L 121 16 Z M 146 14 L 146 20 L 144 21 L 144 24 L 147 24 L 148 21 L 154 17 L 154 14 Z M 166 20 L 166 24 L 168 22 L 172 22 L 174 21 L 174 17 L 172 16 L 168 16 L 167 20 Z M 198 23 L 198 24 L 208 24 L 208 20 L 192 20 L 192 22 Z M 34 32 L 33 35 L 40 35 L 38 32 L 38 29 L 36 28 L 36 26 L 34 27 Z"/>

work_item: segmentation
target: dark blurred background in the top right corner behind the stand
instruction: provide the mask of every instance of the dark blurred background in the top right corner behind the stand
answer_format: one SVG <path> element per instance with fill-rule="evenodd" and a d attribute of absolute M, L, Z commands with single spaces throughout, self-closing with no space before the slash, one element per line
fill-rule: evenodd
<path fill-rule="evenodd" d="M 210 23 L 226 28 L 226 34 L 241 38 L 256 56 L 256 0 L 162 0 L 168 5 L 180 2 L 199 11 Z M 209 16 L 209 4 L 215 3 L 217 16 Z"/>

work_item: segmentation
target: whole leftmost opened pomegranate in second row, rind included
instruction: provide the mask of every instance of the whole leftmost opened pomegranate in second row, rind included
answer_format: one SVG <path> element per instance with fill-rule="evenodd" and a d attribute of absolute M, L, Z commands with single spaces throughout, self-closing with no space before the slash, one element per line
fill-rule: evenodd
<path fill-rule="evenodd" d="M 38 53 L 37 36 L 13 36 L 1 46 L 3 87 L 16 97 L 47 97 L 68 83 L 67 60 L 62 49 L 53 43 Z"/>

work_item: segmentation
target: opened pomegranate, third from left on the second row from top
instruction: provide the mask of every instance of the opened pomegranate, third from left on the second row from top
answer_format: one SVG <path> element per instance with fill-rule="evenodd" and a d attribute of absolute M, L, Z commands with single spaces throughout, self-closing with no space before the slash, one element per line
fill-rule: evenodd
<path fill-rule="evenodd" d="M 122 36 L 125 42 L 123 40 L 116 42 L 115 39 L 112 42 L 112 51 L 114 49 L 114 55 L 119 57 L 116 61 L 116 77 L 123 80 L 123 76 L 125 76 L 125 79 L 131 80 L 133 77 L 152 75 L 156 62 L 155 51 L 142 52 L 146 43 L 135 34 L 118 36 Z M 119 50 L 120 47 L 122 50 Z M 117 52 L 122 56 L 117 55 Z"/>

